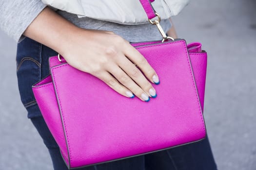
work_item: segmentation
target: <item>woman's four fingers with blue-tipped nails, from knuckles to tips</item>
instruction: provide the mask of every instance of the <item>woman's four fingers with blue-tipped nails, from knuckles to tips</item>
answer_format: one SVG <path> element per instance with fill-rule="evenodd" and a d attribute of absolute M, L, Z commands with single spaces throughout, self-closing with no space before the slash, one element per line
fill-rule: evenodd
<path fill-rule="evenodd" d="M 129 96 L 132 92 L 140 100 L 148 102 L 150 97 L 157 97 L 156 90 L 151 82 L 158 84 L 158 80 L 154 79 L 153 76 L 157 75 L 155 70 L 149 65 L 147 60 L 142 56 L 135 48 L 133 48 L 130 43 L 121 37 L 116 37 L 116 43 L 118 46 L 109 46 L 105 55 L 107 56 L 107 63 L 105 63 L 104 68 L 107 72 L 112 75 L 104 73 L 105 76 L 97 76 L 102 81 L 104 81 L 111 88 L 116 90 L 119 94 L 123 96 Z M 124 55 L 123 48 L 128 47 L 130 51 L 129 56 L 134 60 L 134 63 L 138 65 L 139 68 L 144 69 L 144 74 Z M 132 48 L 131 48 L 132 47 Z M 129 50 L 128 49 L 128 50 Z M 138 59 L 137 59 L 138 58 Z M 143 70 L 142 70 L 143 71 Z M 132 97 L 131 95 L 129 97 Z"/>

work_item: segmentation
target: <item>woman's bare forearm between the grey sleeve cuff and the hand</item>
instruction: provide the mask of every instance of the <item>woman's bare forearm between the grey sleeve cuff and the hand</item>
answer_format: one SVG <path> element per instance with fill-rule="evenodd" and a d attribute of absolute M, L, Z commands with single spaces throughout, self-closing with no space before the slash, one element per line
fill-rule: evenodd
<path fill-rule="evenodd" d="M 67 46 L 67 42 L 70 42 L 74 36 L 78 36 L 81 30 L 85 31 L 59 16 L 51 8 L 46 7 L 23 34 L 62 53 Z"/>

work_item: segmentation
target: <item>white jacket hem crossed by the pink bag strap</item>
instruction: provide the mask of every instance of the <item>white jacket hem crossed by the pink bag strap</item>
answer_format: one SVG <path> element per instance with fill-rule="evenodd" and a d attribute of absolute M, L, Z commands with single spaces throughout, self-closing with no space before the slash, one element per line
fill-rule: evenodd
<path fill-rule="evenodd" d="M 155 0 L 152 5 L 161 19 L 177 15 L 189 0 Z M 148 23 L 139 0 L 42 0 L 51 7 L 77 14 L 122 24 Z"/>

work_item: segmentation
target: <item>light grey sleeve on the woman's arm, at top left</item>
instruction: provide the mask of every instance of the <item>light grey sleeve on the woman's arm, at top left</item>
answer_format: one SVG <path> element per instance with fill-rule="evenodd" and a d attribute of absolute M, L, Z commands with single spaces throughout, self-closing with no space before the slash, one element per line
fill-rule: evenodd
<path fill-rule="evenodd" d="M 26 28 L 46 6 L 41 0 L 0 0 L 0 29 L 19 43 Z"/>

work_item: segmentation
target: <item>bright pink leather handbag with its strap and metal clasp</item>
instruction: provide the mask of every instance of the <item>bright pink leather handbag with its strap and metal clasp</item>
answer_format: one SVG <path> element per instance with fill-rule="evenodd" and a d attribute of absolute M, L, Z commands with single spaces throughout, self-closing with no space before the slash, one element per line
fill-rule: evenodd
<path fill-rule="evenodd" d="M 202 114 L 207 53 L 167 37 L 153 0 L 140 0 L 163 40 L 132 43 L 158 73 L 158 97 L 127 98 L 97 77 L 49 58 L 51 74 L 32 86 L 69 169 L 153 153 L 206 136 Z M 153 18 L 158 19 L 152 21 Z"/>

